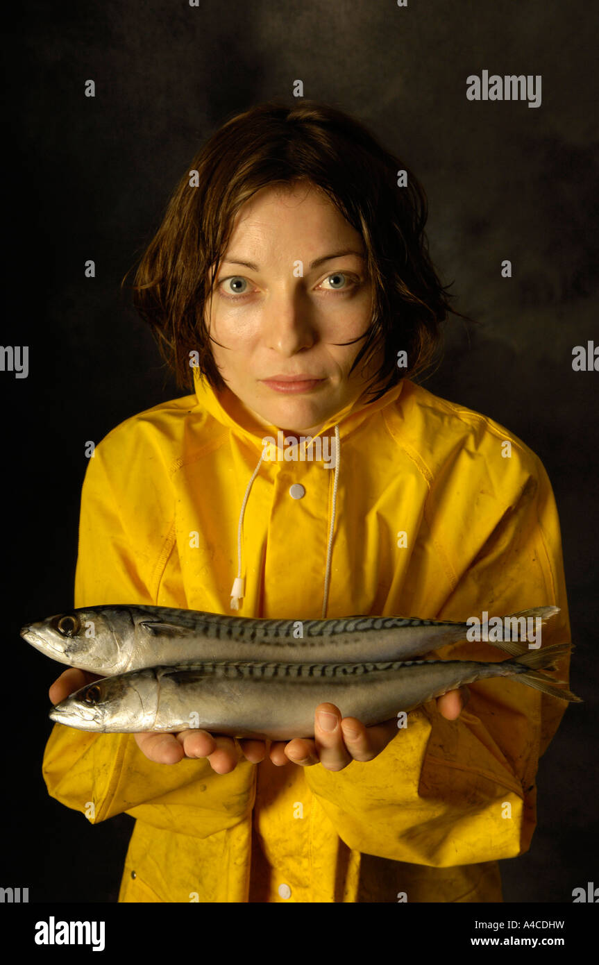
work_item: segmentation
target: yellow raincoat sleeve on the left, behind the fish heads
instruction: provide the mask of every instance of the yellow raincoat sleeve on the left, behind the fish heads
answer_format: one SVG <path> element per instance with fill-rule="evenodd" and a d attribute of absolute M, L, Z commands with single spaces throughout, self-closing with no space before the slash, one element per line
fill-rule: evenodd
<path fill-rule="evenodd" d="M 174 543 L 173 507 L 168 486 L 154 484 L 155 476 L 143 510 L 134 505 L 139 492 L 127 487 L 126 472 L 140 450 L 129 451 L 131 439 L 136 440 L 133 433 L 116 439 L 111 433 L 90 459 L 81 500 L 76 607 L 156 603 Z M 151 472 L 159 474 L 159 462 Z M 127 812 L 157 827 L 172 828 L 175 820 L 181 833 L 204 838 L 231 827 L 252 807 L 251 767 L 244 760 L 230 774 L 219 775 L 207 759 L 159 764 L 139 750 L 133 734 L 95 734 L 55 724 L 42 773 L 50 796 L 92 823 Z M 228 810 L 223 802 L 231 797 Z"/>

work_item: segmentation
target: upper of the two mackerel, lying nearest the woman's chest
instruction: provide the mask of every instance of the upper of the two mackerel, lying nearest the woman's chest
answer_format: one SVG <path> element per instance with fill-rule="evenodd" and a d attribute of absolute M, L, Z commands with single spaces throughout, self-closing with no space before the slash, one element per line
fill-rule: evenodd
<path fill-rule="evenodd" d="M 535 620 L 532 625 L 540 626 L 558 612 L 556 606 L 535 607 L 503 620 L 524 618 L 525 626 L 526 620 Z M 113 676 L 203 661 L 397 661 L 466 640 L 468 630 L 466 623 L 452 620 L 365 616 L 263 620 L 171 607 L 106 605 L 69 610 L 30 623 L 22 627 L 20 635 L 59 663 Z M 488 642 L 511 656 L 527 649 L 513 640 Z"/>

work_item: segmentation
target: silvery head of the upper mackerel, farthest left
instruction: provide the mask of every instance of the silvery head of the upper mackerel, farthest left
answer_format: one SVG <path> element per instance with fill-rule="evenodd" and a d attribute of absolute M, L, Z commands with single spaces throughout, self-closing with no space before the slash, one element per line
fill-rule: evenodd
<path fill-rule="evenodd" d="M 53 660 L 101 676 L 125 670 L 130 653 L 122 641 L 132 625 L 126 607 L 89 607 L 29 623 L 20 635 Z"/>

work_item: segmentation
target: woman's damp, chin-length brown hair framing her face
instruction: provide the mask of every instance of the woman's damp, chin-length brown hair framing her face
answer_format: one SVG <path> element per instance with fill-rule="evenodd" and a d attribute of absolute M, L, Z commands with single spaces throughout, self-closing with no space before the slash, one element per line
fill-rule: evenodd
<path fill-rule="evenodd" d="M 179 180 L 133 285 L 133 305 L 150 324 L 179 388 L 193 390 L 192 350 L 198 351 L 209 383 L 225 384 L 212 357 L 204 306 L 237 211 L 268 185 L 312 182 L 362 235 L 372 316 L 351 371 L 383 348 L 382 365 L 369 386 L 375 399 L 431 364 L 448 312 L 467 317 L 449 307 L 453 296 L 430 261 L 422 185 L 363 124 L 340 110 L 313 100 L 291 107 L 259 104 L 231 117 L 210 137 L 191 162 L 194 170 L 197 186 L 187 172 Z M 407 172 L 405 187 L 397 186 L 401 170 Z M 397 368 L 400 349 L 407 351 L 407 369 Z"/>

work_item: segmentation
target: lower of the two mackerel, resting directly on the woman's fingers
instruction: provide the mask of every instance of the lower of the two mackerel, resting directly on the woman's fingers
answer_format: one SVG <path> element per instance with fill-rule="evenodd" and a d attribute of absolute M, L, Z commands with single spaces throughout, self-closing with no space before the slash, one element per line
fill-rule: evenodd
<path fill-rule="evenodd" d="M 108 676 L 82 687 L 50 711 L 81 731 L 133 733 L 201 728 L 232 737 L 313 737 L 319 703 L 367 727 L 395 718 L 476 680 L 512 677 L 560 700 L 580 698 L 540 672 L 570 649 L 556 644 L 514 660 L 408 660 L 361 663 L 213 661 L 153 667 Z"/>

